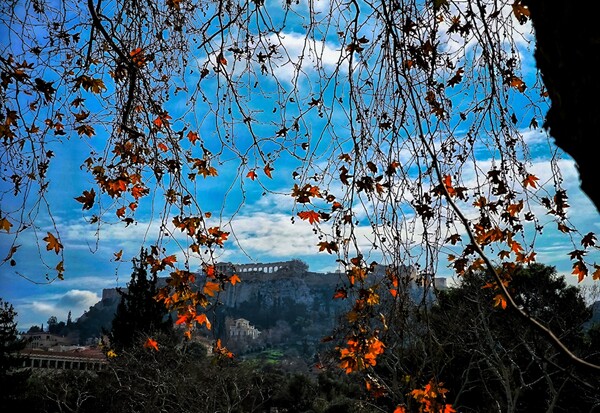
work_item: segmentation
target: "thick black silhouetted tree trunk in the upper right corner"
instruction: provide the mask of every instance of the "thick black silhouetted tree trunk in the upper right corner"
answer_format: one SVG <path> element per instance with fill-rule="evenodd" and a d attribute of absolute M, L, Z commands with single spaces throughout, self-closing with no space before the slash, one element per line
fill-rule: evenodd
<path fill-rule="evenodd" d="M 581 2 L 524 0 L 535 58 L 551 98 L 544 127 L 577 163 L 581 189 L 600 211 L 600 24 Z"/>

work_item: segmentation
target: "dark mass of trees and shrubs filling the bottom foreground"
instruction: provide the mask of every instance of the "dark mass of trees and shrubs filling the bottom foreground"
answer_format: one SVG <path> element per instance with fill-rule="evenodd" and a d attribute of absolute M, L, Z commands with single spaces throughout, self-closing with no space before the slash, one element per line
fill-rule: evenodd
<path fill-rule="evenodd" d="M 564 355 L 521 316 L 485 305 L 491 281 L 472 274 L 425 308 L 398 307 L 411 316 L 389 320 L 387 351 L 364 374 L 337 368 L 341 347 L 300 372 L 289 357 L 215 358 L 204 344 L 182 341 L 168 351 L 130 346 L 100 373 L 38 370 L 22 396 L 34 412 L 61 403 L 79 412 L 593 411 L 598 376 L 562 368 Z M 519 268 L 513 285 L 527 313 L 581 357 L 600 357 L 600 326 L 586 323 L 591 308 L 578 288 L 543 265 Z"/>

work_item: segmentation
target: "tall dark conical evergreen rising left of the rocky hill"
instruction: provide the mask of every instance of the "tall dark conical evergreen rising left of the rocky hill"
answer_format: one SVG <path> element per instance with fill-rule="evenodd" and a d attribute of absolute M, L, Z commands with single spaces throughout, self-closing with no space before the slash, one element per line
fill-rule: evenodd
<path fill-rule="evenodd" d="M 148 273 L 147 251 L 142 248 L 133 259 L 133 272 L 127 289 L 119 289 L 121 301 L 112 321 L 110 347 L 116 351 L 140 345 L 147 337 L 166 333 L 172 336 L 172 319 L 165 306 L 154 299 L 158 277 Z"/>

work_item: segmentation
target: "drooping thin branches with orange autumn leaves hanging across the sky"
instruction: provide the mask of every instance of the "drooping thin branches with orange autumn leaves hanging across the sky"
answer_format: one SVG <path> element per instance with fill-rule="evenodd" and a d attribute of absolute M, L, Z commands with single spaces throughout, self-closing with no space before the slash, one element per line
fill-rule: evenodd
<path fill-rule="evenodd" d="M 27 239 L 47 282 L 68 277 L 66 219 L 50 195 L 73 147 L 84 154 L 73 173 L 86 177 L 66 197 L 76 219 L 98 243 L 104 228 L 146 225 L 143 265 L 167 278 L 155 299 L 187 337 L 210 329 L 209 310 L 243 282 L 217 263 L 254 197 L 291 202 L 315 254 L 337 259 L 347 373 L 378 366 L 386 316 L 410 283 L 434 291 L 442 268 L 489 271 L 488 304 L 524 318 L 511 277 L 536 262 L 546 234 L 568 245 L 577 281 L 600 280 L 597 236 L 573 223 L 560 156 L 525 139 L 546 134 L 549 102 L 524 62 L 533 34 L 520 0 L 336 0 L 318 12 L 303 2 L 5 3 L 2 15 L 18 18 L 2 20 L 0 235 L 2 265 L 20 275 Z M 538 149 L 552 152 L 544 165 Z M 117 265 L 131 258 L 119 248 Z M 598 367 L 531 322 L 568 359 Z M 231 356 L 220 342 L 214 352 Z M 415 389 L 422 411 L 453 411 L 441 386 Z"/>

